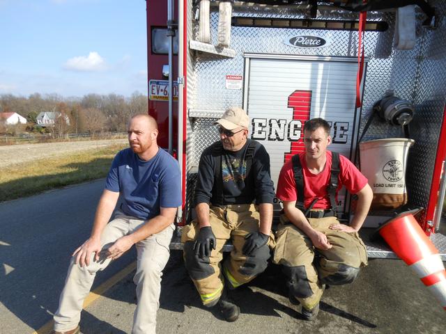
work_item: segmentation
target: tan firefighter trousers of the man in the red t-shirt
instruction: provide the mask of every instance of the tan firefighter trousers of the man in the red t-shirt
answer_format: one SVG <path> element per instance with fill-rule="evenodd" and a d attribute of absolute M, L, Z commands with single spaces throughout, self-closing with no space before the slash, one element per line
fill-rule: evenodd
<path fill-rule="evenodd" d="M 328 250 L 314 248 L 309 237 L 284 214 L 280 218 L 274 262 L 284 266 L 290 294 L 304 308 L 312 309 L 321 300 L 324 284 L 351 283 L 360 267 L 367 266 L 367 250 L 357 232 L 329 229 L 339 223 L 337 218 L 309 218 L 312 227 L 327 236 L 332 245 Z"/>

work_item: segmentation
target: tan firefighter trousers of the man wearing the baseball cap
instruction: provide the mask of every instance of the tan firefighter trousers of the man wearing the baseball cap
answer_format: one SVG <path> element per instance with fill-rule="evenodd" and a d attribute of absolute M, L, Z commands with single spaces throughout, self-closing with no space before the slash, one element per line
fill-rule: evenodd
<path fill-rule="evenodd" d="M 257 248 L 251 256 L 242 252 L 246 235 L 259 231 L 259 219 L 260 214 L 254 205 L 210 207 L 210 226 L 217 241 L 210 257 L 195 255 L 193 246 L 199 233 L 198 222 L 192 221 L 183 228 L 181 241 L 185 244 L 185 265 L 204 305 L 213 305 L 220 299 L 224 276 L 231 285 L 230 288 L 235 288 L 249 282 L 266 269 L 270 257 L 269 247 L 273 248 L 275 244 L 273 234 L 270 234 L 268 244 Z M 228 239 L 231 239 L 234 248 L 231 256 L 221 265 L 222 248 Z"/>

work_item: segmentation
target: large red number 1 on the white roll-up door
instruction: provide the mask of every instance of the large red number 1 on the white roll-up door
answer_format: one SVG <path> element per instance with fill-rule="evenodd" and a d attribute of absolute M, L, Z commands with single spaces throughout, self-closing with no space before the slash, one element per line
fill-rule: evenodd
<path fill-rule="evenodd" d="M 305 121 L 309 120 L 309 112 L 312 109 L 312 90 L 295 90 L 288 97 L 288 107 L 293 108 L 293 125 L 289 127 L 288 138 L 291 141 L 290 152 L 284 154 L 284 162 L 291 159 L 294 154 L 304 152 L 305 146 L 302 140 L 302 130 Z"/>

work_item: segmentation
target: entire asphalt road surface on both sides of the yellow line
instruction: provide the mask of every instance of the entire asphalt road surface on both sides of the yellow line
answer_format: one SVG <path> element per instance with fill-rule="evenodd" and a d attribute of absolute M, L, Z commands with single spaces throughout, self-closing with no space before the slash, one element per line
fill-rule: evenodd
<path fill-rule="evenodd" d="M 0 333 L 31 334 L 52 317 L 72 250 L 89 235 L 103 180 L 0 204 Z M 98 273 L 95 286 L 134 253 Z M 446 313 L 400 260 L 370 260 L 352 285 L 330 287 L 312 323 L 289 303 L 278 267 L 232 293 L 240 319 L 201 306 L 181 253 L 164 270 L 157 333 L 445 333 Z M 84 334 L 130 333 L 132 273 L 82 312 Z"/>

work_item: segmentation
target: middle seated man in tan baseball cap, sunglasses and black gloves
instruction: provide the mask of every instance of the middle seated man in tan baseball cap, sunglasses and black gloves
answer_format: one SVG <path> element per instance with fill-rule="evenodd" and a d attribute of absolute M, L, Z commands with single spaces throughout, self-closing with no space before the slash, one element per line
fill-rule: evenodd
<path fill-rule="evenodd" d="M 270 248 L 272 200 L 270 157 L 247 138 L 249 117 L 239 107 L 215 122 L 220 141 L 201 154 L 194 200 L 197 218 L 183 229 L 187 271 L 203 305 L 220 309 L 226 321 L 240 313 L 226 289 L 249 282 L 266 269 Z M 220 264 L 231 239 L 231 255 Z"/>

